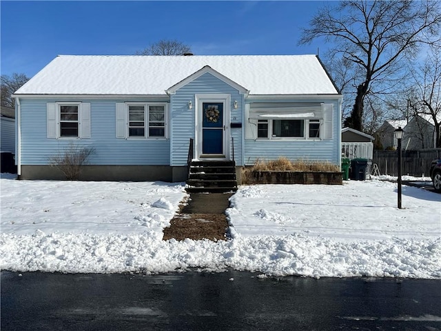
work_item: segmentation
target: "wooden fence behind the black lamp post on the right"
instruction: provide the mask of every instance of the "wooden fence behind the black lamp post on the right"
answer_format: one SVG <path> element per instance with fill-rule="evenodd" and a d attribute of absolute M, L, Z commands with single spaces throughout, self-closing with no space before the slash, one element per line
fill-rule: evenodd
<path fill-rule="evenodd" d="M 430 150 L 402 150 L 402 175 L 428 177 L 431 162 L 441 159 L 441 148 Z M 398 175 L 398 152 L 396 150 L 374 150 L 372 163 L 378 165 L 380 174 Z"/>

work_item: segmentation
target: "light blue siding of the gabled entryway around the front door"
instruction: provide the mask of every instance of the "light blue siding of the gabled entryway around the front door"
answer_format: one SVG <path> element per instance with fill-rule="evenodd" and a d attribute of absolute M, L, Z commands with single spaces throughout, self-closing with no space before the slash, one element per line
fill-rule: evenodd
<path fill-rule="evenodd" d="M 201 77 L 194 79 L 187 85 L 183 86 L 172 95 L 172 114 L 171 114 L 171 130 L 172 142 L 170 148 L 171 165 L 183 166 L 187 165 L 187 156 L 189 148 L 189 139 L 195 137 L 195 112 L 196 101 L 195 94 L 231 94 L 232 103 L 238 101 L 238 108 L 231 109 L 231 119 L 227 120 L 226 125 L 236 122 L 241 123 L 243 109 L 243 95 L 238 90 L 232 88 L 227 83 L 214 77 L 212 74 L 205 73 Z M 193 108 L 188 109 L 188 101 L 192 101 Z M 234 119 L 236 118 L 236 119 Z M 242 130 L 240 128 L 232 128 L 231 136 L 234 137 L 234 154 L 236 164 L 243 164 L 242 157 Z"/>

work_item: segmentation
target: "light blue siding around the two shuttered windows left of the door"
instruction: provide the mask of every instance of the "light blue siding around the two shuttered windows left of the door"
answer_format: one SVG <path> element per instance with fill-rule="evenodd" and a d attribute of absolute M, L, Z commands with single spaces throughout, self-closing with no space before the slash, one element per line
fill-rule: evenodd
<path fill-rule="evenodd" d="M 146 100 L 70 100 L 90 103 L 91 137 L 48 139 L 46 103 L 65 100 L 21 100 L 21 164 L 45 165 L 49 157 L 74 143 L 94 148 L 91 165 L 168 165 L 170 141 L 165 139 L 117 139 L 116 102 Z M 156 100 L 148 100 L 156 101 Z"/>

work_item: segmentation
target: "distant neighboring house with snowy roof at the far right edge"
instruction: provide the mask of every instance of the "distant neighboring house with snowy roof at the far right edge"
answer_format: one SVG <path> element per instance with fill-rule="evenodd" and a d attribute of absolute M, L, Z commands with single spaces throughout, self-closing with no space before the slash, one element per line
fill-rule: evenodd
<path fill-rule="evenodd" d="M 438 119 L 438 122 L 441 121 Z M 422 150 L 436 148 L 435 122 L 429 114 L 414 115 L 404 128 L 402 139 L 404 150 Z"/>

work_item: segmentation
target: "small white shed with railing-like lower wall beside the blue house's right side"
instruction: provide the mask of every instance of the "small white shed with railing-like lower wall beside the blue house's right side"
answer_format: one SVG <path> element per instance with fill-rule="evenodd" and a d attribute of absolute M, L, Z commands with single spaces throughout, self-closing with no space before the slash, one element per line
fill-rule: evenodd
<path fill-rule="evenodd" d="M 371 160 L 374 140 L 369 134 L 352 128 L 342 128 L 342 157 Z"/>

